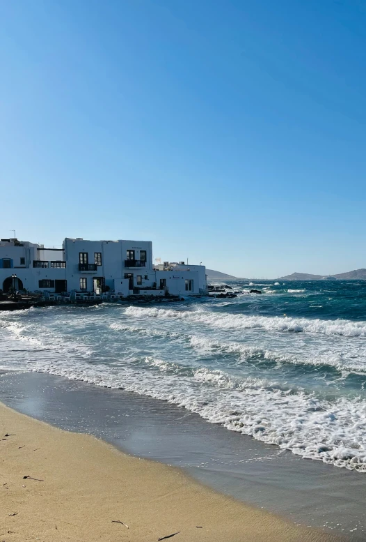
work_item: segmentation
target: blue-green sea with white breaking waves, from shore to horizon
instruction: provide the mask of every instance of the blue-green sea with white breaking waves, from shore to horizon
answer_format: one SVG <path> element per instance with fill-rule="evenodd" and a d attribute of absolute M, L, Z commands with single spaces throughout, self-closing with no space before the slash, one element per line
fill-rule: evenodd
<path fill-rule="evenodd" d="M 235 299 L 0 313 L 0 370 L 152 396 L 366 473 L 366 282 L 229 284 Z"/>

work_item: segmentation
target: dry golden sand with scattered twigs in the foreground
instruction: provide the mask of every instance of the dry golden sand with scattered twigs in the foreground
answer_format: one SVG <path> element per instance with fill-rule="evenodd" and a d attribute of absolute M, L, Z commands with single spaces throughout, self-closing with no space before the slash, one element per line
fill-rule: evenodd
<path fill-rule="evenodd" d="M 1 403 L 0 495 L 0 542 L 155 542 L 176 532 L 166 540 L 340 540 L 220 495 L 179 469 L 128 456 Z"/>

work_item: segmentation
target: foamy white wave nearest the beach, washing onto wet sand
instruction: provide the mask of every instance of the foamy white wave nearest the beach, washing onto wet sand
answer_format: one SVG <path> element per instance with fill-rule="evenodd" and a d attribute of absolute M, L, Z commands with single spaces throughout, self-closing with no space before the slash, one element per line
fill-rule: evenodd
<path fill-rule="evenodd" d="M 165 400 L 303 458 L 366 472 L 363 400 L 319 400 L 265 379 L 235 379 L 221 370 L 182 367 L 151 356 L 130 363 L 122 371 L 74 363 L 62 368 L 40 363 L 36 370 Z"/>

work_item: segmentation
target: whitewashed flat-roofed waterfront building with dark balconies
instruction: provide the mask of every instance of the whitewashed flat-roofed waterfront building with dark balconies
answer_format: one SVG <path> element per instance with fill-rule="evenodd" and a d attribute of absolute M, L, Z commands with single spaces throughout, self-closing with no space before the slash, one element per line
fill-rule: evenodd
<path fill-rule="evenodd" d="M 206 269 L 184 262 L 154 266 L 151 241 L 65 239 L 63 248 L 0 240 L 0 289 L 108 291 L 129 295 L 206 293 Z"/>

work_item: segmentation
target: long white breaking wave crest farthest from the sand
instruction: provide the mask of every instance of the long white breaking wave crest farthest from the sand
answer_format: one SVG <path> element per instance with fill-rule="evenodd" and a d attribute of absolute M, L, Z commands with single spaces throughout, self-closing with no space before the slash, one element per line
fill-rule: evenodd
<path fill-rule="evenodd" d="M 330 336 L 366 337 L 366 322 L 351 320 L 321 320 L 292 317 L 247 316 L 242 314 L 212 313 L 205 310 L 172 310 L 162 308 L 127 307 L 129 317 L 152 317 L 180 319 L 199 322 L 220 329 L 263 329 L 265 331 L 289 331 L 321 333 Z"/>

